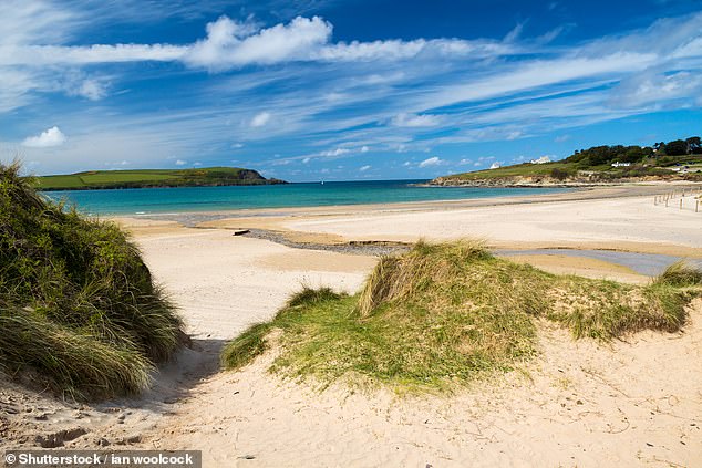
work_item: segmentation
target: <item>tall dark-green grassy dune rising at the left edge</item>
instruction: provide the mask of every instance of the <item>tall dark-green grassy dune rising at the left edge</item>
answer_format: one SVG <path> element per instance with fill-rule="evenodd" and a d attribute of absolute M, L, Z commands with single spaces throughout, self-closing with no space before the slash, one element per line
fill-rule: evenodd
<path fill-rule="evenodd" d="M 138 249 L 0 166 L 0 365 L 80 398 L 133 394 L 185 339 Z"/>

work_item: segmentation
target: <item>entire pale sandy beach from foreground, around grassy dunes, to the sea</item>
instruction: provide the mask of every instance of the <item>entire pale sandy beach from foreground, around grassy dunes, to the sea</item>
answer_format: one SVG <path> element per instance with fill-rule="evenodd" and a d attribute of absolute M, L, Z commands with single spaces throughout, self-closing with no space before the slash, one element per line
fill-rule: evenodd
<path fill-rule="evenodd" d="M 599 191 L 598 191 L 599 190 Z M 541 354 L 523 372 L 451 395 L 399 396 L 281 381 L 276 350 L 219 372 L 224 343 L 270 319 L 301 284 L 355 292 L 376 257 L 297 242 L 483 238 L 500 249 L 606 249 L 702 259 L 702 212 L 653 204 L 669 187 L 603 188 L 489 201 L 331 207 L 122 218 L 179 306 L 193 349 L 154 375 L 138 399 L 58 403 L 8 385 L 6 447 L 56 435 L 65 447 L 202 449 L 204 466 L 702 466 L 702 302 L 680 333 L 609 344 L 539 325 Z M 692 204 L 692 205 L 691 205 Z M 216 216 L 213 216 L 216 215 Z M 524 254 L 556 273 L 626 282 L 649 277 L 602 260 Z M 81 431 L 70 433 L 81 428 Z M 81 433 L 81 434 L 79 434 Z M 78 436 L 74 436 L 79 434 Z"/>

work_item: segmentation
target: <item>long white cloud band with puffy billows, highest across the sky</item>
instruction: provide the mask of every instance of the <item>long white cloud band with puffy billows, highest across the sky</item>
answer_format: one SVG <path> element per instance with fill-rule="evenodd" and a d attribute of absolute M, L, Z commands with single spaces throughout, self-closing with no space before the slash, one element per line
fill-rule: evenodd
<path fill-rule="evenodd" d="M 27 10 L 27 9 L 24 9 Z M 0 23 L 3 25 L 6 22 Z M 498 56 L 515 53 L 512 44 L 492 40 L 460 39 L 353 41 L 331 43 L 333 27 L 319 17 L 297 17 L 287 24 L 259 29 L 251 22 L 220 17 L 206 27 L 205 39 L 186 45 L 93 44 L 39 45 L 39 34 L 13 28 L 10 41 L 0 44 L 0 64 L 49 65 L 135 61 L 183 61 L 188 66 L 224 71 L 251 64 L 290 61 L 354 62 L 407 60 L 427 56 Z"/>

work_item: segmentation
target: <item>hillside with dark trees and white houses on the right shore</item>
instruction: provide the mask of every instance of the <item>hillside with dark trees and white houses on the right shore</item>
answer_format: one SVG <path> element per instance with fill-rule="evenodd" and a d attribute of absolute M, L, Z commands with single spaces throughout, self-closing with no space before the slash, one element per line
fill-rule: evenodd
<path fill-rule="evenodd" d="M 438 177 L 441 186 L 587 186 L 626 181 L 702 180 L 700 137 L 652 146 L 595 146 L 551 162 L 547 157 L 513 166 Z"/>

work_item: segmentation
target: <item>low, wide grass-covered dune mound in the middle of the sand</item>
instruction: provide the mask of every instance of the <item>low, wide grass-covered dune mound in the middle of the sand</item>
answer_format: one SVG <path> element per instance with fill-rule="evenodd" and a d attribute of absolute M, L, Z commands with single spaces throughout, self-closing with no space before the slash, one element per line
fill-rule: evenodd
<path fill-rule="evenodd" d="M 630 285 L 550 274 L 493 257 L 479 242 L 420 242 L 381 259 L 355 295 L 306 288 L 272 321 L 226 346 L 223 364 L 250 363 L 279 330 L 281 352 L 271 370 L 286 376 L 312 376 L 323 385 L 361 377 L 395 388 L 446 389 L 534 356 L 539 319 L 576 339 L 679 330 L 685 305 L 702 292 L 690 280 L 696 277 L 685 269 L 682 284 L 679 271 Z"/>

